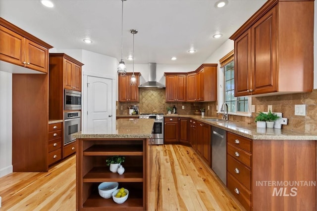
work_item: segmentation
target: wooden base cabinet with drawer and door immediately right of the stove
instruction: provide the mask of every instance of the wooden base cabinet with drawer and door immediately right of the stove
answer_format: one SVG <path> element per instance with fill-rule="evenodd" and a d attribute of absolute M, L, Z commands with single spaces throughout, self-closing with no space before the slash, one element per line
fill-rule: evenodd
<path fill-rule="evenodd" d="M 178 117 L 164 117 L 164 143 L 178 143 Z"/>

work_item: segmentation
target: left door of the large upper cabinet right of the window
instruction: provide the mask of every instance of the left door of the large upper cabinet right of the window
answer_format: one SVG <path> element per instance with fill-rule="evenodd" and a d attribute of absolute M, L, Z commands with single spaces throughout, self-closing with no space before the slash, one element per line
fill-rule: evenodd
<path fill-rule="evenodd" d="M 234 41 L 234 96 L 250 94 L 251 89 L 251 41 L 250 30 Z"/>

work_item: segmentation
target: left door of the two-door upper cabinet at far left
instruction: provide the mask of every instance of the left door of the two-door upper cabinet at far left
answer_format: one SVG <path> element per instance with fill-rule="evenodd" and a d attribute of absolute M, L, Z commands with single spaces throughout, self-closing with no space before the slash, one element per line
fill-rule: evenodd
<path fill-rule="evenodd" d="M 0 60 L 23 66 L 25 62 L 25 39 L 0 26 Z"/>

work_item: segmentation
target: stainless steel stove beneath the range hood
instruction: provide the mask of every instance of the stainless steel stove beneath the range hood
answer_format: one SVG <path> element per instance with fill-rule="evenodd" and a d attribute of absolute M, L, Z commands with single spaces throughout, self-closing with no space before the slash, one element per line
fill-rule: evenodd
<path fill-rule="evenodd" d="M 154 119 L 153 144 L 164 144 L 164 116 L 163 114 L 140 114 L 140 119 Z"/>

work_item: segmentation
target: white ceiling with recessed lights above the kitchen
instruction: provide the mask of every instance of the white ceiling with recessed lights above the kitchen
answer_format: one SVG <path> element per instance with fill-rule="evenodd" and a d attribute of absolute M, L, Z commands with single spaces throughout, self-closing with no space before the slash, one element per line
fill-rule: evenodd
<path fill-rule="evenodd" d="M 57 49 L 85 49 L 121 59 L 121 0 L 0 0 L 0 16 Z M 123 4 L 123 59 L 135 64 L 201 64 L 266 0 L 126 0 Z M 215 33 L 223 34 L 213 39 Z M 92 44 L 83 39 L 89 38 Z M 197 51 L 190 54 L 191 48 Z M 176 56 L 177 60 L 170 58 Z"/>

